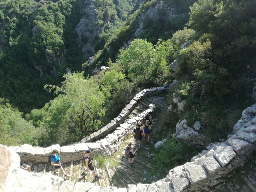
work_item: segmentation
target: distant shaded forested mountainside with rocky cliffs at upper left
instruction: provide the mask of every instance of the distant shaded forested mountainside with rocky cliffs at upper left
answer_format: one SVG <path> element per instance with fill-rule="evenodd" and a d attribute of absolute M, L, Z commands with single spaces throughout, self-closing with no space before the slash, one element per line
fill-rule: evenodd
<path fill-rule="evenodd" d="M 53 98 L 44 85 L 59 84 L 66 68 L 81 71 L 136 3 L 1 0 L 0 97 L 25 113 L 43 107 Z"/>

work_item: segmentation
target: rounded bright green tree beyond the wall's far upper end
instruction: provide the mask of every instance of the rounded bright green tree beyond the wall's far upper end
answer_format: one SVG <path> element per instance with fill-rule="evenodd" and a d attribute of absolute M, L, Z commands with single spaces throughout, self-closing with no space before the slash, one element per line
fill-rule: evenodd
<path fill-rule="evenodd" d="M 157 50 L 146 40 L 135 39 L 127 49 L 120 49 L 120 64 L 135 85 L 152 87 L 154 80 L 160 78 L 161 83 L 166 79 L 168 68 L 162 57 L 157 57 Z M 160 83 L 160 84 L 161 84 Z"/>

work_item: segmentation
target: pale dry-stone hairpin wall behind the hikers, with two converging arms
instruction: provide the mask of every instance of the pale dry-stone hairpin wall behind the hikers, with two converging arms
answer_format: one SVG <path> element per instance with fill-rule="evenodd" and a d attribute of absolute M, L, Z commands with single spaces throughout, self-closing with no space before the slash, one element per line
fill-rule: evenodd
<path fill-rule="evenodd" d="M 150 89 L 144 89 L 140 91 L 138 94 L 134 96 L 130 103 L 125 106 L 125 108 L 122 110 L 119 116 L 114 118 L 114 120 L 112 120 L 108 125 L 94 132 L 89 137 L 82 139 L 80 142 L 62 147 L 60 147 L 60 145 L 58 144 L 55 144 L 45 148 L 24 144 L 22 146 L 10 146 L 8 147 L 8 149 L 18 153 L 22 160 L 25 162 L 48 162 L 48 157 L 53 149 L 58 149 L 60 151 L 59 157 L 61 158 L 63 163 L 81 159 L 83 151 L 87 149 L 92 150 L 92 156 L 99 154 L 103 156 L 109 156 L 113 152 L 115 152 L 116 149 L 120 146 L 123 137 L 131 133 L 131 131 L 135 127 L 135 124 L 139 120 L 142 120 L 143 117 L 147 113 L 149 113 L 149 111 L 152 111 L 155 108 L 154 104 L 150 104 L 148 110 L 140 113 L 138 116 L 132 119 L 127 119 L 128 115 L 138 104 L 138 102 L 145 96 L 149 96 L 167 90 L 170 87 L 175 86 L 176 83 L 177 81 L 174 80 L 173 83 L 170 85 L 165 85 L 163 87 L 157 88 L 153 87 Z M 113 131 L 113 133 L 109 134 L 111 131 Z M 105 135 L 107 136 L 103 138 Z M 92 143 L 93 140 L 97 139 L 100 140 Z"/>

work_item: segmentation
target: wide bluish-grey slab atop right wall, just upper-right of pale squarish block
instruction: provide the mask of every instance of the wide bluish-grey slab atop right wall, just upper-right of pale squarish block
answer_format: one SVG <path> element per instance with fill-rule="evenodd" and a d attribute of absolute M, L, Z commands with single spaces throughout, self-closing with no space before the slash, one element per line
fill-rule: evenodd
<path fill-rule="evenodd" d="M 248 150 L 253 148 L 253 145 L 251 143 L 240 139 L 228 139 L 226 143 L 232 147 L 237 155 L 245 154 Z"/>

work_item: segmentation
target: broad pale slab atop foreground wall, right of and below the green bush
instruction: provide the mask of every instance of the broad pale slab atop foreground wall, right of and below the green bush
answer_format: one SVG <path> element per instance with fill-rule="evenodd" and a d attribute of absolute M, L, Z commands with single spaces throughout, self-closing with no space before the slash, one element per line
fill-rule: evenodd
<path fill-rule="evenodd" d="M 184 164 L 184 168 L 191 184 L 200 182 L 208 177 L 207 171 L 200 165 L 186 163 Z"/>

